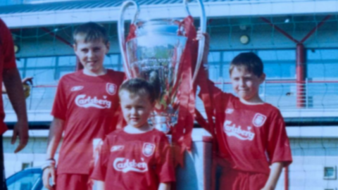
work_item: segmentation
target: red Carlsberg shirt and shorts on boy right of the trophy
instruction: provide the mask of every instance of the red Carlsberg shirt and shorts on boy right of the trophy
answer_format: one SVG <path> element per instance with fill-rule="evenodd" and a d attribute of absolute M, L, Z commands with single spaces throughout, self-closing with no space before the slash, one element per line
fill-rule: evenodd
<path fill-rule="evenodd" d="M 214 131 L 224 161 L 220 189 L 260 190 L 270 174 L 269 165 L 292 162 L 282 115 L 269 103 L 247 105 L 216 87 L 213 92 Z"/>

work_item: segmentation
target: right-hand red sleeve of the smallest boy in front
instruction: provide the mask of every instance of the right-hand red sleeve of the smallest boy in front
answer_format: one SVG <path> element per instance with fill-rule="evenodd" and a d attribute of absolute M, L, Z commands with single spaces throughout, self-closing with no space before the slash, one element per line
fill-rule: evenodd
<path fill-rule="evenodd" d="M 173 163 L 173 152 L 168 142 L 168 138 L 163 135 L 157 149 L 157 175 L 159 182 L 175 182 L 175 170 Z"/>

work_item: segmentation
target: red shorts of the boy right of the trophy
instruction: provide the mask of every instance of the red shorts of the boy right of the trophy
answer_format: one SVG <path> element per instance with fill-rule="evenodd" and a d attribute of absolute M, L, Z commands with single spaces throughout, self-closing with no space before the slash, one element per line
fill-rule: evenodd
<path fill-rule="evenodd" d="M 227 170 L 220 177 L 220 190 L 261 190 L 268 177 L 262 173 Z"/>

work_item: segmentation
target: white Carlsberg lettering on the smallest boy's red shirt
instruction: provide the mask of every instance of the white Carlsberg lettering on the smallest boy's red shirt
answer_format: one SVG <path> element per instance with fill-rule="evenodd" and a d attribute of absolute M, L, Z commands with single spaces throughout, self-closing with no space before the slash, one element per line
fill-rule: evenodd
<path fill-rule="evenodd" d="M 113 167 L 119 172 L 147 172 L 148 165 L 144 162 L 144 158 L 141 158 L 141 162 L 137 163 L 134 159 L 129 160 L 125 158 L 116 158 L 113 162 Z"/>

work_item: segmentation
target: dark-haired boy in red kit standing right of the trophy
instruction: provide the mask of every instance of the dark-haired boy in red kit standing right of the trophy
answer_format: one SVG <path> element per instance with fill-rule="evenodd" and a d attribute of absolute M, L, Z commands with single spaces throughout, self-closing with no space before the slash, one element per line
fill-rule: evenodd
<path fill-rule="evenodd" d="M 208 87 L 213 91 L 215 129 L 211 130 L 223 166 L 220 189 L 273 190 L 292 156 L 280 111 L 258 95 L 265 80 L 261 58 L 240 53 L 230 63 L 230 80 L 237 97 L 210 81 L 200 94 L 203 99 Z"/>

